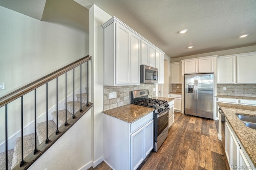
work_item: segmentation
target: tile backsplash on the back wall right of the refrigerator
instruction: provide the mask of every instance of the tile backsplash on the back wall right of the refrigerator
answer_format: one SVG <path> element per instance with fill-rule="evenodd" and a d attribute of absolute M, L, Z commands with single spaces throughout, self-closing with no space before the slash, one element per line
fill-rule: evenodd
<path fill-rule="evenodd" d="M 217 95 L 256 97 L 256 84 L 217 84 Z"/>

